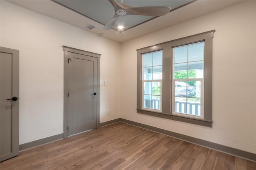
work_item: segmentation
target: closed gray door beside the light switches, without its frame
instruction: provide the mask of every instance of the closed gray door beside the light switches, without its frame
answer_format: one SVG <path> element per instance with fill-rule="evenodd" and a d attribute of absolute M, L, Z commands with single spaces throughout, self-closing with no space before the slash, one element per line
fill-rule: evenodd
<path fill-rule="evenodd" d="M 97 128 L 97 58 L 68 52 L 68 136 Z"/>

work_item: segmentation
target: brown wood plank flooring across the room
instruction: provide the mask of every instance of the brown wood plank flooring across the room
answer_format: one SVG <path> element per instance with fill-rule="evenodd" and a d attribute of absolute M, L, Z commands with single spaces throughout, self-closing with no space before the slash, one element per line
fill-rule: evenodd
<path fill-rule="evenodd" d="M 256 162 L 125 123 L 20 152 L 1 170 L 256 170 Z"/>

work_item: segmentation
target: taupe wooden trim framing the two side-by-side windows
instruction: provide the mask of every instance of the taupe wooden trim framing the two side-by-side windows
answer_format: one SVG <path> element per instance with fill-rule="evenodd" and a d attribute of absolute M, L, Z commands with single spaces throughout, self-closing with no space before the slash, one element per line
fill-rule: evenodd
<path fill-rule="evenodd" d="M 212 39 L 215 30 L 137 49 L 137 113 L 212 127 Z M 204 119 L 172 114 L 172 48 L 204 41 Z M 142 54 L 163 50 L 162 112 L 142 109 Z M 164 75 L 170 73 L 170 75 Z M 170 86 L 171 85 L 171 86 Z"/>

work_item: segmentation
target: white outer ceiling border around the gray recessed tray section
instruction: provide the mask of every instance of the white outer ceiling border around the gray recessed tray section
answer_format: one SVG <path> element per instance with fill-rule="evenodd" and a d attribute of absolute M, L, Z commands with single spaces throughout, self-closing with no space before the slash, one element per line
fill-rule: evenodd
<path fill-rule="evenodd" d="M 61 6 L 50 0 L 8 0 L 18 6 L 22 6 L 34 12 L 50 16 L 57 20 L 66 22 L 78 28 L 100 35 L 105 34 L 105 38 L 114 40 L 116 42 L 125 42 L 139 36 L 150 34 L 157 30 L 162 30 L 166 27 L 232 6 L 242 0 L 198 0 L 190 3 L 182 8 L 171 11 L 170 13 L 154 18 L 148 22 L 140 24 L 124 32 L 117 32 L 114 29 L 103 30 L 104 25 L 86 18 L 77 12 L 74 12 L 64 6 Z M 170 1 L 170 0 L 169 0 Z M 85 28 L 89 24 L 95 26 L 92 30 Z"/>

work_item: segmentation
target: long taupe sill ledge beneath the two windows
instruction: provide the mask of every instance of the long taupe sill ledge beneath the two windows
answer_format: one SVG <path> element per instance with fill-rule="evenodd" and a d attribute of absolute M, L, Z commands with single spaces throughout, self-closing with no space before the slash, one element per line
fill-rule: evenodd
<path fill-rule="evenodd" d="M 161 117 L 161 118 L 165 118 L 165 119 L 171 119 L 171 120 L 174 120 L 174 121 L 192 123 L 192 124 L 195 124 L 195 125 L 201 125 L 201 126 L 205 126 L 205 127 L 212 127 L 212 121 L 205 120 L 205 119 L 196 119 L 196 118 L 184 117 L 184 116 L 180 116 L 180 115 L 173 115 L 173 114 L 162 113 L 162 112 L 148 111 L 148 110 L 138 109 L 138 108 L 137 108 L 137 113 L 144 114 L 144 115 L 155 116 L 155 117 Z"/>

